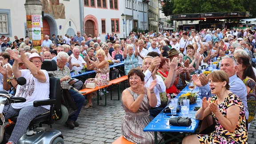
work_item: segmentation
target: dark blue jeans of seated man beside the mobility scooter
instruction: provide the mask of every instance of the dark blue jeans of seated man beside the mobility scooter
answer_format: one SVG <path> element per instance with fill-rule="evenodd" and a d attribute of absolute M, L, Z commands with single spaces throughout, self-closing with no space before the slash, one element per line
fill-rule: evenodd
<path fill-rule="evenodd" d="M 80 113 L 80 110 L 83 108 L 85 98 L 84 98 L 83 95 L 79 94 L 78 92 L 76 92 L 73 89 L 69 89 L 69 93 L 70 93 L 70 96 L 72 96 L 73 100 L 76 103 L 77 111 L 72 116 L 69 116 L 68 120 L 71 120 L 71 121 L 75 122 L 77 120 L 77 117 L 78 117 L 79 113 Z"/>

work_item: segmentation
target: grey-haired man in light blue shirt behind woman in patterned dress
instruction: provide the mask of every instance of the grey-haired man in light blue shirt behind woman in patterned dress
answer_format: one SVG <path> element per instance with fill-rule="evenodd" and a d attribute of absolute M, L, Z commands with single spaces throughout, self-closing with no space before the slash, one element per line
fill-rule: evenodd
<path fill-rule="evenodd" d="M 246 121 L 248 120 L 249 112 L 248 112 L 248 106 L 247 106 L 247 89 L 243 83 L 242 80 L 240 80 L 239 77 L 236 76 L 237 71 L 237 64 L 235 58 L 225 56 L 221 60 L 220 64 L 220 70 L 223 70 L 226 72 L 229 76 L 229 86 L 230 91 L 239 96 L 239 98 L 242 100 L 244 104 L 244 110 L 245 110 L 245 117 Z M 200 74 L 199 80 L 200 84 L 196 82 L 198 80 L 198 77 L 193 75 L 193 80 L 195 81 L 196 85 L 199 87 L 199 96 L 202 99 L 203 97 L 206 97 L 207 99 L 209 97 L 212 97 L 212 93 L 210 90 L 210 86 L 208 84 L 209 80 L 206 76 L 204 76 L 203 73 Z M 246 124 L 246 127 L 248 127 L 248 124 Z"/>

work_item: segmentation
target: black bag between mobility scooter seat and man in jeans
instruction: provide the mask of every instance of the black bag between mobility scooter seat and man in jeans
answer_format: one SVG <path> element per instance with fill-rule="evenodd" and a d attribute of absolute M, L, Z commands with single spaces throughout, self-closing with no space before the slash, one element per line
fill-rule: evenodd
<path fill-rule="evenodd" d="M 76 103 L 72 96 L 70 95 L 68 89 L 61 88 L 61 102 L 68 109 L 68 116 L 72 116 L 76 113 Z"/>

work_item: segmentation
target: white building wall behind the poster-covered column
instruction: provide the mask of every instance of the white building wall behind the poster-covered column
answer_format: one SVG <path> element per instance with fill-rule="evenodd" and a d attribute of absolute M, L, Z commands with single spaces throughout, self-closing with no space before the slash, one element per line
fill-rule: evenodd
<path fill-rule="evenodd" d="M 8 0 L 0 4 L 1 9 L 10 10 L 11 18 L 11 33 L 5 35 L 10 37 L 11 41 L 14 40 L 14 36 L 20 38 L 25 38 L 26 36 L 26 10 L 25 4 L 26 0 Z M 57 25 L 56 35 L 65 35 L 68 28 L 74 29 L 74 31 L 80 30 L 80 12 L 79 12 L 79 0 L 60 0 L 65 6 L 65 19 L 55 19 Z M 44 13 L 46 14 L 46 13 Z M 69 21 L 71 21 L 71 27 L 69 26 Z M 59 26 L 61 25 L 61 30 Z"/>

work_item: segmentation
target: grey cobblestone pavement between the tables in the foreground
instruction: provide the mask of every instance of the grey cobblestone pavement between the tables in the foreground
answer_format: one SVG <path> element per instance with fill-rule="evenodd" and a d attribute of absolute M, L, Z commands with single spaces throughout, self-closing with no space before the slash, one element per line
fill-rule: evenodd
<path fill-rule="evenodd" d="M 53 125 L 53 128 L 62 132 L 65 144 L 111 144 L 121 136 L 121 122 L 124 116 L 121 100 L 110 100 L 110 93 L 107 97 L 107 106 L 104 106 L 103 96 L 100 105 L 93 99 L 92 108 L 81 110 L 77 120 L 79 127 L 71 130 L 65 124 Z M 113 92 L 113 99 L 117 99 L 117 90 Z M 256 144 L 256 119 L 252 121 L 248 136 L 248 144 Z"/>

